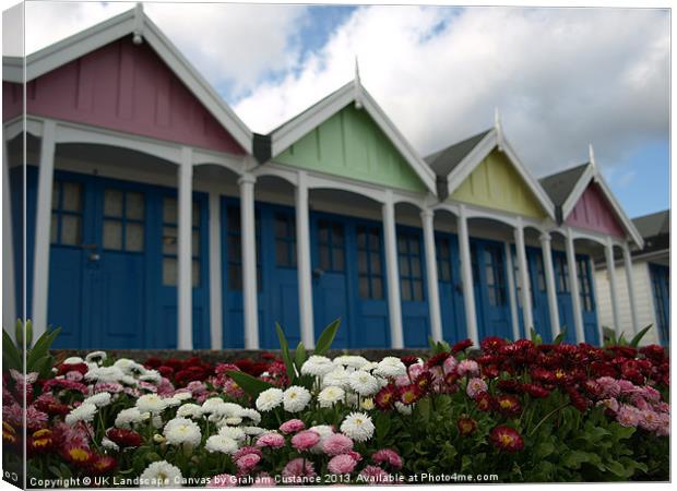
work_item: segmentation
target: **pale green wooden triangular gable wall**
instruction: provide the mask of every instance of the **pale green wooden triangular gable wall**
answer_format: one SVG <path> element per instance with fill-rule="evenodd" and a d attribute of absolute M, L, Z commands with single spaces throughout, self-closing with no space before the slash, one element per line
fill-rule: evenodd
<path fill-rule="evenodd" d="M 356 109 L 353 104 L 302 136 L 274 160 L 364 182 L 427 191 L 369 113 Z"/>

